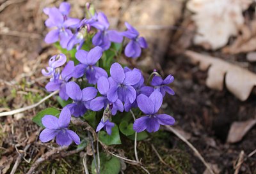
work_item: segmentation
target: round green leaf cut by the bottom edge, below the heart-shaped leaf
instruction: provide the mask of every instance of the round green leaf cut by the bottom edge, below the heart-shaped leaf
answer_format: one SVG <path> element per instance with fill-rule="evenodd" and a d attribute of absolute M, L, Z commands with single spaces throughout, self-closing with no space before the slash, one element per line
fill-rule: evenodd
<path fill-rule="evenodd" d="M 100 153 L 100 174 L 118 174 L 120 170 L 121 163 L 118 157 Z M 92 161 L 92 173 L 96 174 L 95 159 Z"/>

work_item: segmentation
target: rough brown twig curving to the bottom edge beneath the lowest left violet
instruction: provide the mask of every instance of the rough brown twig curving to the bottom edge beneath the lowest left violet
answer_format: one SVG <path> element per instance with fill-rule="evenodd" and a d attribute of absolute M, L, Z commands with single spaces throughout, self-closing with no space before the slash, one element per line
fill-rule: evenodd
<path fill-rule="evenodd" d="M 58 148 L 54 148 L 52 150 L 50 150 L 49 152 L 45 153 L 44 155 L 42 155 L 40 158 L 38 158 L 34 164 L 32 164 L 31 168 L 29 169 L 27 174 L 32 174 L 33 171 L 36 170 L 36 168 L 43 163 L 44 161 L 46 161 L 47 159 L 49 159 L 50 157 L 52 157 L 54 154 L 59 154 L 61 151 L 63 150 L 67 150 L 68 146 L 62 146 L 62 147 L 58 147 Z M 57 157 L 57 156 L 55 156 Z M 53 157 L 52 157 L 53 159 Z"/>

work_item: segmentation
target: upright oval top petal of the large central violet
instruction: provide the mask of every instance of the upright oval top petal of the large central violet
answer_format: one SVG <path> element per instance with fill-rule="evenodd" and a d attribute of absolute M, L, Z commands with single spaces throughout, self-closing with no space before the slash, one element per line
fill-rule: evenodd
<path fill-rule="evenodd" d="M 123 83 L 125 78 L 124 69 L 118 63 L 113 63 L 110 68 L 110 75 L 117 83 Z"/>

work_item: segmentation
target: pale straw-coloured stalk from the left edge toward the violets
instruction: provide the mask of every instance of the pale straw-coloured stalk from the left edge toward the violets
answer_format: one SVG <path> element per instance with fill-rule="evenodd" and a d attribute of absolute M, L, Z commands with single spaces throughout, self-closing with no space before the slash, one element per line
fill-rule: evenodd
<path fill-rule="evenodd" d="M 17 110 L 12 110 L 12 111 L 9 111 L 9 112 L 1 112 L 0 113 L 0 117 L 3 117 L 3 116 L 7 116 L 7 115 L 13 115 L 15 113 L 20 113 L 20 112 L 24 112 L 26 110 L 30 110 L 32 108 L 35 108 L 36 106 L 40 105 L 41 103 L 43 103 L 45 100 L 51 98 L 52 96 L 54 96 L 55 94 L 58 94 L 59 91 L 54 91 L 52 92 L 51 94 L 49 94 L 49 96 L 46 96 L 45 98 L 41 99 L 38 103 L 35 103 L 34 105 L 30 105 L 30 106 L 26 106 L 24 108 L 19 108 Z"/>

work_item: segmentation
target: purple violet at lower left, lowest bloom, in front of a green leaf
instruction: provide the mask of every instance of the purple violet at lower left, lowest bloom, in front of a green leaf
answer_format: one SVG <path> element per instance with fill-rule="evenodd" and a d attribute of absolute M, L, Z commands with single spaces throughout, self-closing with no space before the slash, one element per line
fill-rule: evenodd
<path fill-rule="evenodd" d="M 53 115 L 45 115 L 42 118 L 42 124 L 45 129 L 40 133 L 39 139 L 45 143 L 51 141 L 56 136 L 56 143 L 58 143 L 58 145 L 68 146 L 72 141 L 79 145 L 79 136 L 74 131 L 68 130 L 70 119 L 71 114 L 68 108 L 63 108 L 59 118 Z"/>

